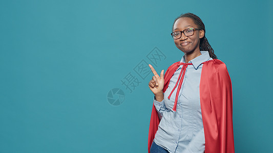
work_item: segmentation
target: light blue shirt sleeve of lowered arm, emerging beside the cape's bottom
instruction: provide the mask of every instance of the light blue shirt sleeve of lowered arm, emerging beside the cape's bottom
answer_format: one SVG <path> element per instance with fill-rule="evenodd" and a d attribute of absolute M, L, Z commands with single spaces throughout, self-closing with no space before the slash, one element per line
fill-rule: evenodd
<path fill-rule="evenodd" d="M 183 151 L 188 153 L 204 152 L 205 151 L 205 134 L 204 128 L 200 130 Z"/>

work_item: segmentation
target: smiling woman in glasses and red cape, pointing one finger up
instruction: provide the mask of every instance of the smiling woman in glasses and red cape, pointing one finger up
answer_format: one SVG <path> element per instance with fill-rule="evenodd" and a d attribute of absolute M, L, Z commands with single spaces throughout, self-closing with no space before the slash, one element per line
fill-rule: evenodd
<path fill-rule="evenodd" d="M 171 35 L 184 56 L 164 76 L 149 64 L 155 95 L 149 152 L 234 152 L 232 84 L 204 23 L 195 14 L 181 14 Z"/>

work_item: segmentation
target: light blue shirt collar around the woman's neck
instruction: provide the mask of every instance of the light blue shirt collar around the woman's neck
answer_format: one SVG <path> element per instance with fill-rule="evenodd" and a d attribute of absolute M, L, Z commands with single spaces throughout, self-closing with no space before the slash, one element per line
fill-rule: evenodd
<path fill-rule="evenodd" d="M 194 66 L 195 69 L 197 69 L 198 66 L 201 65 L 203 62 L 205 62 L 205 61 L 207 61 L 207 60 L 209 60 L 211 58 L 211 57 L 209 57 L 208 51 L 200 51 L 200 52 L 201 52 L 200 56 L 192 59 L 191 61 L 188 61 L 188 63 L 193 63 L 193 66 Z M 186 62 L 184 55 L 183 55 L 183 57 L 182 57 L 182 59 L 181 59 L 180 62 L 182 62 L 182 63 Z M 181 65 L 181 66 L 183 66 L 183 65 Z M 181 66 L 179 66 L 179 67 L 181 67 Z"/>

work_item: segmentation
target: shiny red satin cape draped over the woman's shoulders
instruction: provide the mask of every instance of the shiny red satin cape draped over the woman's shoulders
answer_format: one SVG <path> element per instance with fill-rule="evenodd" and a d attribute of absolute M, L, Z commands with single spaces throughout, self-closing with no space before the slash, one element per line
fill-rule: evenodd
<path fill-rule="evenodd" d="M 166 91 L 179 62 L 165 72 L 163 92 Z M 203 62 L 200 79 L 200 103 L 205 134 L 205 152 L 234 152 L 232 121 L 232 82 L 226 65 L 217 59 Z M 155 138 L 160 119 L 153 104 L 150 120 L 148 152 Z"/>

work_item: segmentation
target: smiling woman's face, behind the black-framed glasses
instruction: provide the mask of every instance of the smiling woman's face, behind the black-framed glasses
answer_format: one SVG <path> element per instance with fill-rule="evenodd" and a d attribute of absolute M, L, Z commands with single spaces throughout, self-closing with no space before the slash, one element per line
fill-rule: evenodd
<path fill-rule="evenodd" d="M 198 29 L 197 25 L 191 18 L 181 17 L 176 20 L 174 24 L 173 32 L 175 31 L 183 31 L 187 28 L 195 28 Z M 200 52 L 200 39 L 204 37 L 203 30 L 195 30 L 192 36 L 186 37 L 183 33 L 181 34 L 181 38 L 174 39 L 175 45 L 178 49 L 180 49 L 185 54 L 191 54 L 195 52 Z"/>

